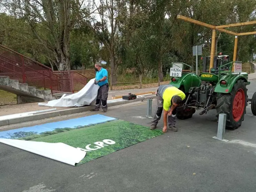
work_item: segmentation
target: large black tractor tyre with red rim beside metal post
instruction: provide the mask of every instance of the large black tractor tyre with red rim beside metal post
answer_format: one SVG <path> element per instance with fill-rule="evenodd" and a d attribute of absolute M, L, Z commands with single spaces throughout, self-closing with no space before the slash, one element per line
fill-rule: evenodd
<path fill-rule="evenodd" d="M 244 81 L 238 80 L 230 93 L 221 93 L 217 98 L 217 115 L 226 114 L 226 128 L 235 130 L 242 125 L 246 111 L 247 90 Z"/>

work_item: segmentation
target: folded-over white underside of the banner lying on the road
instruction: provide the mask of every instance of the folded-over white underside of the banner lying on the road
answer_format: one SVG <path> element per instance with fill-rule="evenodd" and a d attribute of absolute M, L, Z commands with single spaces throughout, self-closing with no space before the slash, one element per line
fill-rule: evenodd
<path fill-rule="evenodd" d="M 46 143 L 17 139 L 0 139 L 0 142 L 72 166 L 75 166 L 75 163 L 79 163 L 86 155 L 86 152 L 64 143 Z"/>

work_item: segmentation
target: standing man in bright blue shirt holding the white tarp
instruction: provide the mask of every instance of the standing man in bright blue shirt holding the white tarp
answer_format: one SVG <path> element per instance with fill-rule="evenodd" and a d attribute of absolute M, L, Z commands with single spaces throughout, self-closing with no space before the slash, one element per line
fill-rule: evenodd
<path fill-rule="evenodd" d="M 107 112 L 107 98 L 108 98 L 108 71 L 102 68 L 100 63 L 95 64 L 95 80 L 94 84 L 99 85 L 97 99 L 96 99 L 96 106 L 94 109 L 90 111 L 99 111 L 100 105 L 102 103 L 103 112 Z"/>

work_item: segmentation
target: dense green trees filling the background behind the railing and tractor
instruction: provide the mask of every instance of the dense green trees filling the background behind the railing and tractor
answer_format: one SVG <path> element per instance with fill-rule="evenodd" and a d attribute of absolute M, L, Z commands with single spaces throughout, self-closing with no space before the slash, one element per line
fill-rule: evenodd
<path fill-rule="evenodd" d="M 46 2 L 32 1 L 37 5 L 38 2 Z M 203 56 L 210 55 L 211 30 L 177 20 L 178 14 L 213 25 L 256 20 L 255 0 L 100 0 L 97 8 L 94 1 L 89 0 L 88 5 L 81 7 L 77 7 L 74 1 L 70 2 L 70 21 L 73 25 L 69 26 L 68 23 L 62 25 L 58 20 L 62 13 L 56 12 L 56 9 L 62 10 L 62 5 L 50 0 L 47 2 L 53 2 L 56 19 L 51 28 L 51 19 L 46 14 L 49 11 L 42 9 L 42 14 L 38 14 L 35 10 L 39 6 L 30 12 L 25 9 L 25 4 L 14 6 L 15 2 L 18 0 L 0 2 L 2 10 L 9 10 L 10 13 L 0 13 L 0 44 L 48 66 L 59 67 L 61 54 L 72 69 L 80 69 L 82 65 L 90 68 L 95 62 L 104 60 L 119 82 L 129 69 L 135 71 L 133 76 L 168 77 L 173 61 L 187 63 L 195 71 L 194 45 L 202 44 Z M 29 15 L 31 18 L 38 16 L 38 19 L 33 20 Z M 62 33 L 64 26 L 68 27 L 66 36 Z M 239 33 L 255 31 L 255 25 L 228 30 Z M 63 46 L 60 50 L 59 45 Z M 232 59 L 233 48 L 234 36 L 217 32 L 216 52 L 228 54 Z M 250 60 L 252 49 L 256 50 L 256 36 L 239 36 L 237 60 Z M 126 78 L 124 81 L 131 77 L 127 75 Z"/>

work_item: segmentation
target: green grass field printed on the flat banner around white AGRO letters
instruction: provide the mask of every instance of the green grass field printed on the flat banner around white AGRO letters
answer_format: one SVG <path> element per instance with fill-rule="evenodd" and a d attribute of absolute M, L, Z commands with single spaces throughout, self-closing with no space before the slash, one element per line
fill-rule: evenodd
<path fill-rule="evenodd" d="M 104 139 L 115 141 L 115 144 L 113 145 L 88 151 L 85 158 L 77 164 L 80 165 L 162 134 L 162 130 L 149 130 L 149 128 L 145 126 L 123 120 L 115 120 L 91 127 L 74 129 L 54 135 L 40 137 L 31 141 L 51 143 L 63 142 L 72 147 L 79 147 L 82 149 L 86 149 L 86 146 L 89 144 L 92 144 L 89 146 L 90 148 L 94 148 L 94 146 L 96 146 L 94 142 L 102 142 Z"/>

